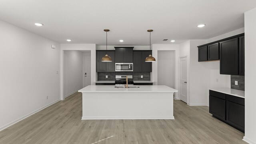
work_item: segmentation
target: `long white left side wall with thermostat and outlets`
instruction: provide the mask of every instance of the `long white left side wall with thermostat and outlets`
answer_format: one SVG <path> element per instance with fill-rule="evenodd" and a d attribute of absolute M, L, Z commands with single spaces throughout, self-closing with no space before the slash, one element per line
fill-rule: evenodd
<path fill-rule="evenodd" d="M 60 100 L 60 45 L 1 20 L 0 40 L 2 130 Z"/>

